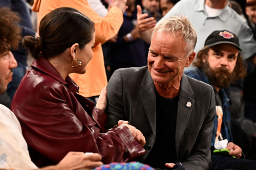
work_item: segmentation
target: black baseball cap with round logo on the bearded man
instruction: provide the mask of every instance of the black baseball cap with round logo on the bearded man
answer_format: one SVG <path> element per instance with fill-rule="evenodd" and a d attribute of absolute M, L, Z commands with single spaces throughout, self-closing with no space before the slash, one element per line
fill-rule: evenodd
<path fill-rule="evenodd" d="M 214 31 L 212 32 L 205 40 L 204 46 L 214 46 L 218 44 L 232 44 L 238 48 L 238 50 L 242 51 L 239 45 L 238 36 L 234 33 L 231 33 L 227 30 Z"/>

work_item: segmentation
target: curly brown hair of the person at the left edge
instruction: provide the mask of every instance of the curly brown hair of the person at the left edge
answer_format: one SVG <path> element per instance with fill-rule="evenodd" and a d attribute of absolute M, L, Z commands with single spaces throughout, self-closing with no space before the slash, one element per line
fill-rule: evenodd
<path fill-rule="evenodd" d="M 16 50 L 22 39 L 19 17 L 9 8 L 0 7 L 0 53 Z"/>

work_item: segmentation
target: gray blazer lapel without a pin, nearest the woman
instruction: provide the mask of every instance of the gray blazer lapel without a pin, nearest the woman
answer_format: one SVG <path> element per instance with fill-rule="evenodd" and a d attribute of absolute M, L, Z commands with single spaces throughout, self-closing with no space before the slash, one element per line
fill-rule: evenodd
<path fill-rule="evenodd" d="M 156 90 L 150 72 L 146 70 L 144 78 L 140 84 L 143 89 L 139 91 L 151 130 L 156 137 Z"/>

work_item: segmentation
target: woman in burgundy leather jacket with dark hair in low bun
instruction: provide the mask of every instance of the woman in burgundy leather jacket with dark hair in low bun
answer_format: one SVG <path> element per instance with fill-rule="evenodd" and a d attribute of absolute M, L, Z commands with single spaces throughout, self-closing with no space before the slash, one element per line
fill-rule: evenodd
<path fill-rule="evenodd" d="M 58 8 L 41 20 L 39 36 L 23 39 L 35 60 L 11 106 L 33 162 L 39 167 L 56 164 L 70 151 L 99 153 L 103 163 L 143 155 L 141 132 L 130 125 L 105 131 L 105 96 L 94 108 L 68 76 L 86 72 L 93 57 L 94 23 L 73 8 Z"/>

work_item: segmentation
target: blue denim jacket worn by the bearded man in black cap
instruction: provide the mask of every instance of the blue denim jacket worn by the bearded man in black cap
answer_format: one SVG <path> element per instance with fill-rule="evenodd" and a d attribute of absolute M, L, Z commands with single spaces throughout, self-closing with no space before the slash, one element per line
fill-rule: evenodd
<path fill-rule="evenodd" d="M 191 78 L 207 83 L 214 88 L 214 86 L 207 79 L 206 75 L 200 69 L 190 69 L 190 70 L 184 71 L 184 74 Z M 221 135 L 223 139 L 227 139 L 228 142 L 231 142 L 232 134 L 231 134 L 230 110 L 229 110 L 229 103 L 228 103 L 229 99 L 227 98 L 227 95 L 224 89 L 220 89 L 219 96 L 221 98 L 222 110 L 223 110 Z M 212 129 L 211 147 L 214 147 L 217 128 L 218 128 L 218 117 L 216 116 L 214 120 L 214 129 Z"/>

